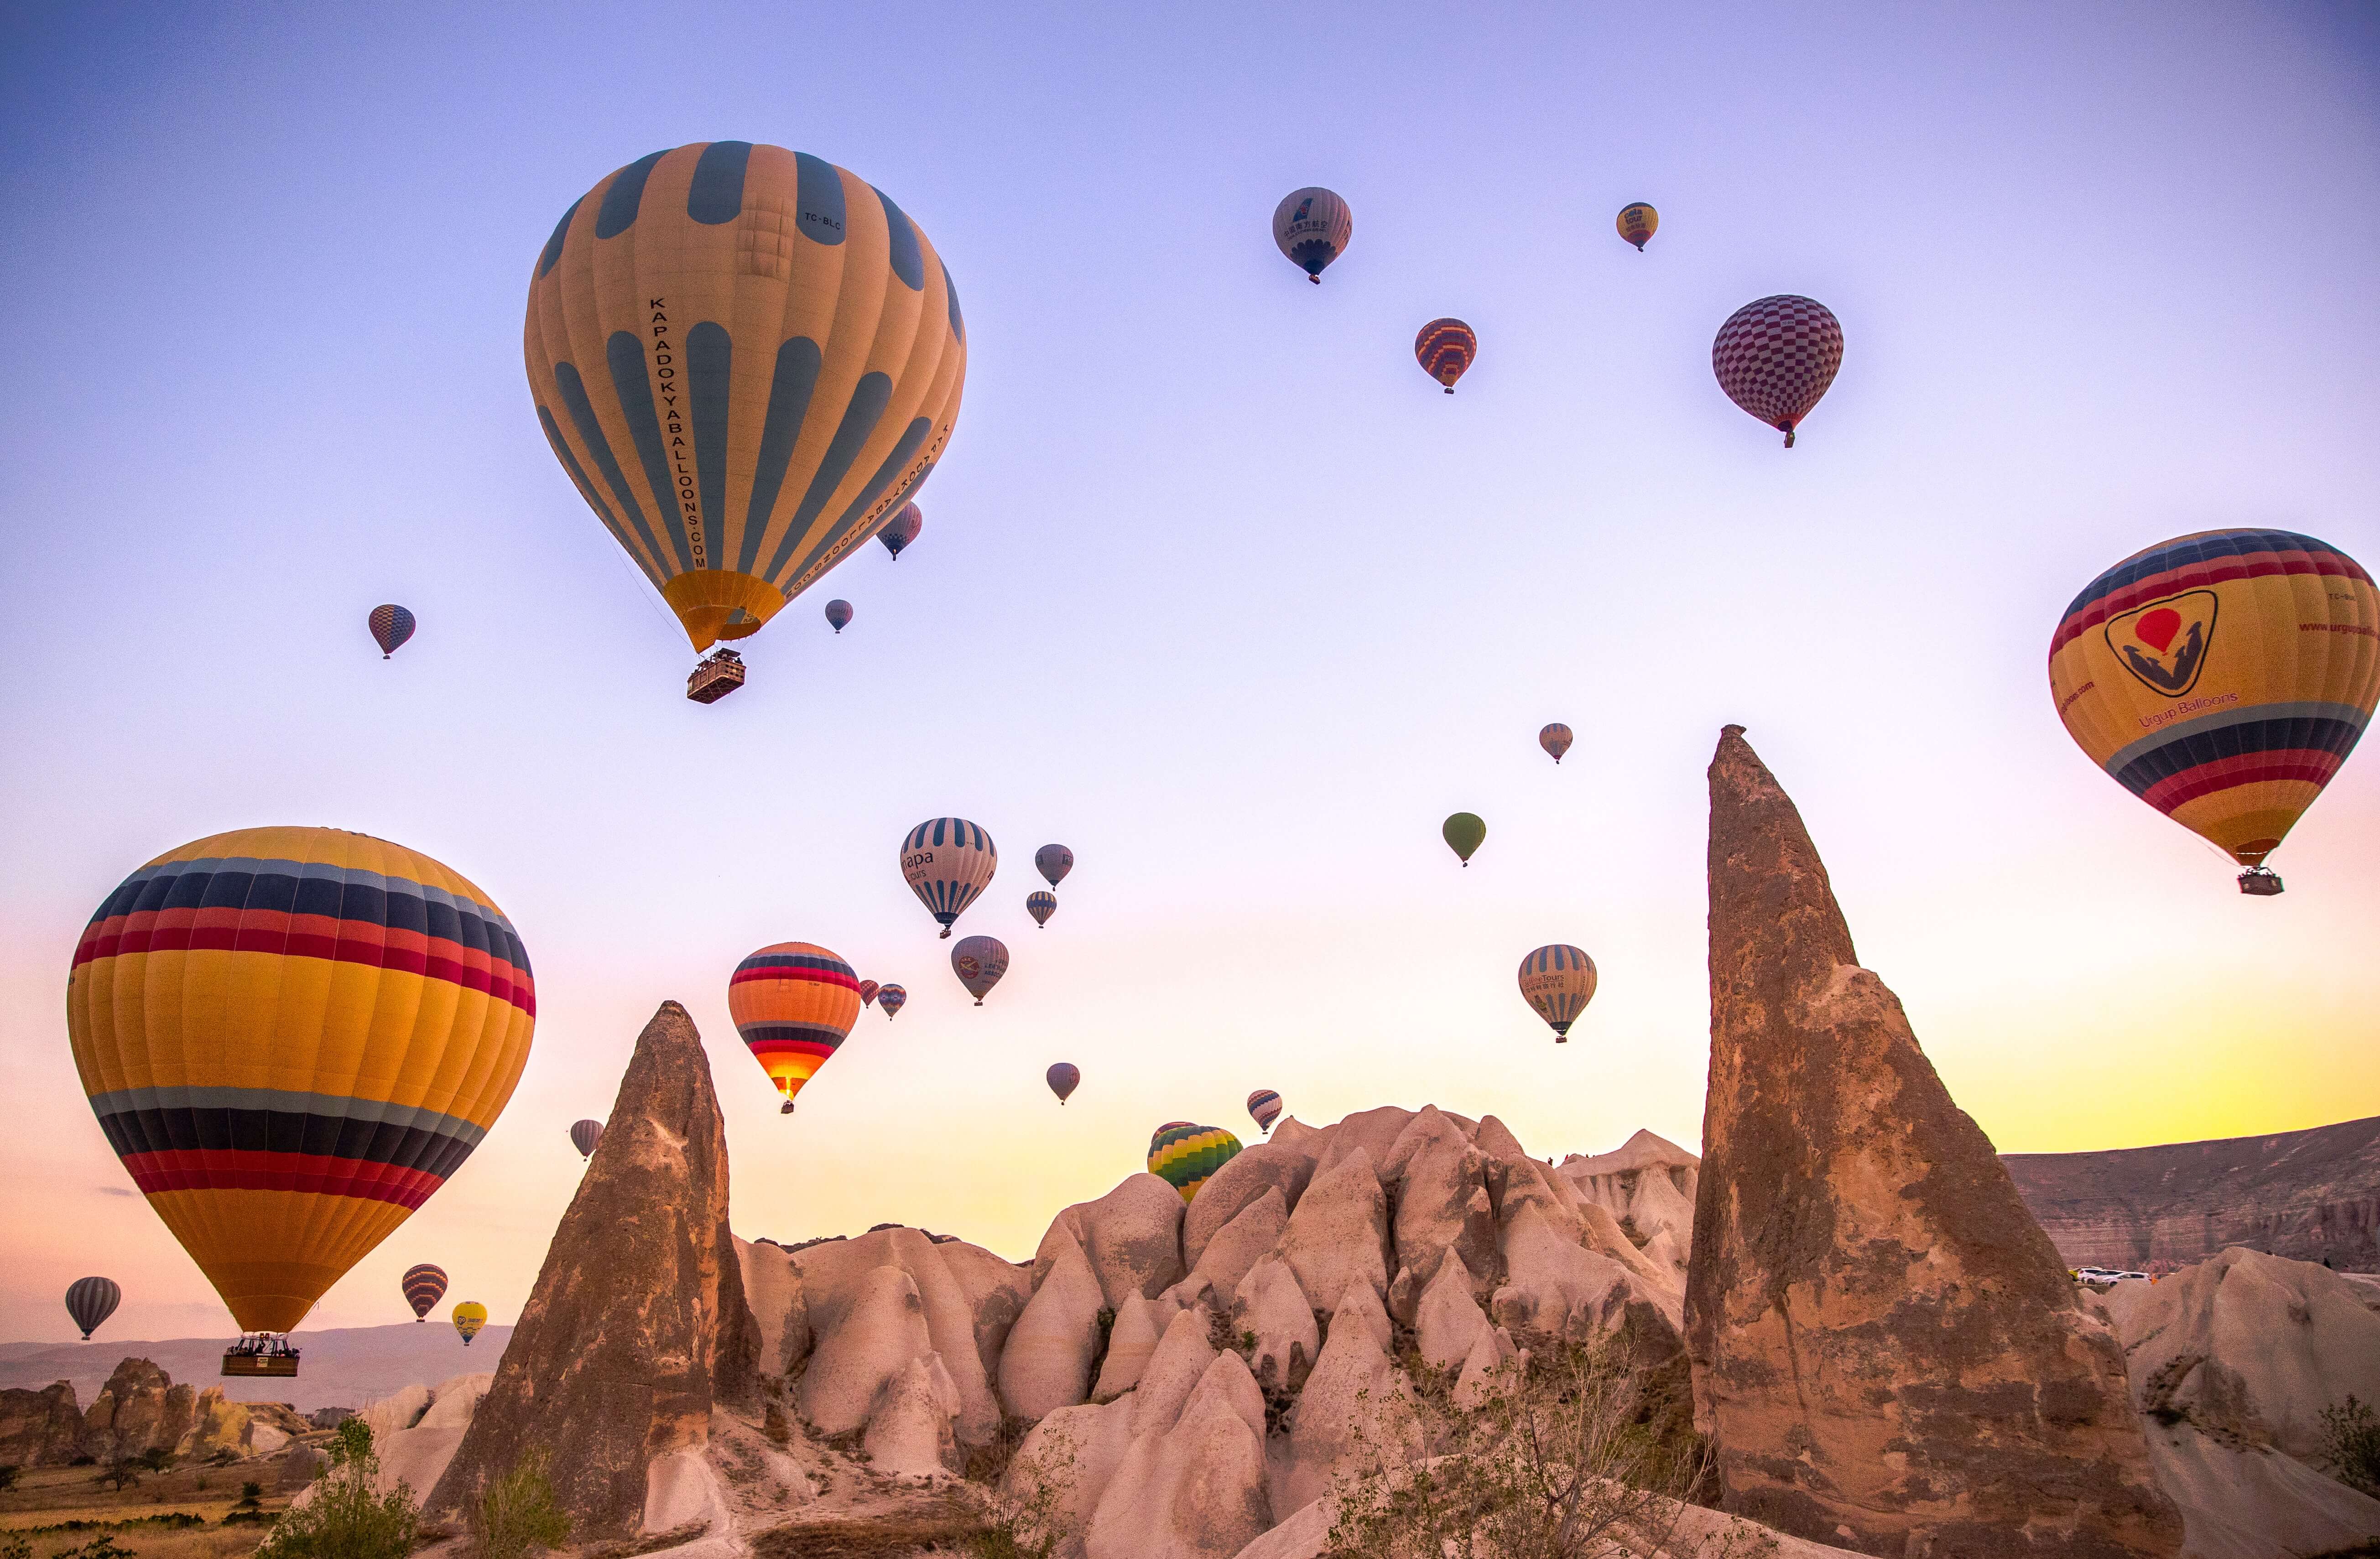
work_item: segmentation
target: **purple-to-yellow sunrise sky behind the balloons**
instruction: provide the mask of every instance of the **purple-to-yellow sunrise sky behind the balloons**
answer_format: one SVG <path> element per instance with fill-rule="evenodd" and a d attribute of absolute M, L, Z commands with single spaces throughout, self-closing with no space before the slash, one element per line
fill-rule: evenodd
<path fill-rule="evenodd" d="M 509 1321 L 662 1000 L 745 1238 L 1028 1257 L 1157 1123 L 1252 1140 L 1252 1088 L 1695 1145 L 1728 721 L 2002 1150 L 2380 1114 L 2380 757 L 2247 900 L 2044 676 L 2073 593 L 2171 536 L 2380 566 L 2368 7 L 17 5 L 0 126 L 0 1338 L 69 1338 L 93 1271 L 119 1338 L 228 1333 L 62 997 L 117 881 L 257 824 L 433 854 L 538 981 L 502 1121 L 309 1326 L 405 1319 L 412 1261 Z M 571 200 L 714 138 L 897 200 L 969 378 L 923 538 L 700 707 L 521 312 Z M 1307 183 L 1354 212 L 1319 288 L 1269 236 Z M 1790 452 L 1709 369 L 1768 293 L 1847 338 Z M 1411 359 L 1440 314 L 1480 340 L 1454 397 Z M 390 662 L 378 602 L 421 619 Z M 942 814 L 1002 850 L 981 1009 L 900 881 Z M 795 1116 L 726 1016 L 776 940 L 912 993 Z M 1559 1047 L 1540 943 L 1602 969 Z"/>

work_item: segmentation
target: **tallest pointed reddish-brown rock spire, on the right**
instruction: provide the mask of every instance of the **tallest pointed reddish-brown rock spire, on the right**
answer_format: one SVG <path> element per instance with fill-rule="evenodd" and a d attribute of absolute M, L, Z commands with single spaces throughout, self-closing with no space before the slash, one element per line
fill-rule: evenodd
<path fill-rule="evenodd" d="M 2178 1552 L 2113 1333 L 1859 966 L 1740 726 L 1709 778 L 1685 1321 L 1726 1509 L 1871 1554 Z"/>

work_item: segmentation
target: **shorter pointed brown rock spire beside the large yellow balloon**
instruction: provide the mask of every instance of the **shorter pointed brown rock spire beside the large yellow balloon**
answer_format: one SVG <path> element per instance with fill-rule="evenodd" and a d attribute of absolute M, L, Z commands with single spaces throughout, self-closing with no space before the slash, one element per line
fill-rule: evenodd
<path fill-rule="evenodd" d="M 683 1504 L 712 1404 L 757 1388 L 759 1328 L 728 1233 L 726 1126 L 702 1038 L 664 1002 L 428 1507 L 464 1507 L 543 1447 L 576 1538 L 631 1538 L 659 1504 Z"/>

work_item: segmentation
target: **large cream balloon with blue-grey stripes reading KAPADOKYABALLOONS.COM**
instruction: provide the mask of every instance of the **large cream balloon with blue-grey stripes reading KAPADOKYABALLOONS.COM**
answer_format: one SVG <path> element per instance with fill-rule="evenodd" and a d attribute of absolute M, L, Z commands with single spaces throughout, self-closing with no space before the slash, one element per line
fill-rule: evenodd
<path fill-rule="evenodd" d="M 757 633 L 933 474 L 966 326 L 857 174 L 712 140 L 562 214 L 528 283 L 538 421 L 695 650 Z"/>

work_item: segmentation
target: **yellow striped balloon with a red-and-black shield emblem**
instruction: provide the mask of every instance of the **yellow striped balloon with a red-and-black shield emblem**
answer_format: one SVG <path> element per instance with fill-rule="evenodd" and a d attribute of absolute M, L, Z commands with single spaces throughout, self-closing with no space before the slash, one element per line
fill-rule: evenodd
<path fill-rule="evenodd" d="M 2094 578 L 2049 638 L 2066 733 L 2213 843 L 2240 890 L 2340 771 L 2380 702 L 2380 593 L 2292 531 L 2199 531 Z"/>

